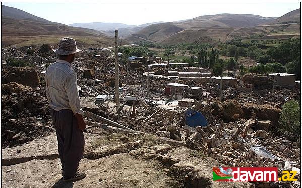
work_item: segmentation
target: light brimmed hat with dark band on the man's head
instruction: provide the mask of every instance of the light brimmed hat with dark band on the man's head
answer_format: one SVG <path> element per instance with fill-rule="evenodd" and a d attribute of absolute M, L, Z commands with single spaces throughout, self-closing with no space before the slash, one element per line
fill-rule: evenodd
<path fill-rule="evenodd" d="M 60 39 L 60 43 L 58 45 L 58 49 L 52 49 L 56 54 L 59 55 L 69 55 L 69 54 L 74 54 L 78 53 L 81 50 L 77 48 L 77 44 L 75 39 L 69 38 L 69 37 L 64 37 Z"/>

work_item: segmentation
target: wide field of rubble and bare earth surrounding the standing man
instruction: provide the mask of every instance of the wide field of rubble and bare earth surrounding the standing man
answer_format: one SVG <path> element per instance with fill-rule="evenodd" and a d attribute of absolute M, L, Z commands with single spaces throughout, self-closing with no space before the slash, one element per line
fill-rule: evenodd
<path fill-rule="evenodd" d="M 222 187 L 212 181 L 213 166 L 278 167 L 279 177 L 281 169 L 300 170 L 300 136 L 279 129 L 282 106 L 300 101 L 299 89 L 273 88 L 270 76 L 216 81 L 209 69 L 130 61 L 119 63 L 117 107 L 114 57 L 97 54 L 84 50 L 73 63 L 88 124 L 80 164 L 87 177 L 74 187 Z M 12 58 L 30 65 L 11 66 Z M 70 187 L 59 181 L 43 78 L 55 60 L 46 44 L 2 49 L 4 187 Z M 300 187 L 295 178 L 231 186 Z"/>

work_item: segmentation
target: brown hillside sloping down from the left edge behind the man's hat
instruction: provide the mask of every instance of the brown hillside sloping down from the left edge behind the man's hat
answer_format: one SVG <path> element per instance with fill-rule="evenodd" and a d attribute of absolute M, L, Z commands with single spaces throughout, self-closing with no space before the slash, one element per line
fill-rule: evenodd
<path fill-rule="evenodd" d="M 2 6 L 1 26 L 3 47 L 41 45 L 45 41 L 49 43 L 56 41 L 57 43 L 58 39 L 64 36 L 81 38 L 83 45 L 99 44 L 95 40 L 101 41 L 101 44 L 106 47 L 114 43 L 113 38 L 99 31 L 50 22 L 7 6 Z M 38 40 L 36 40 L 37 38 Z"/>

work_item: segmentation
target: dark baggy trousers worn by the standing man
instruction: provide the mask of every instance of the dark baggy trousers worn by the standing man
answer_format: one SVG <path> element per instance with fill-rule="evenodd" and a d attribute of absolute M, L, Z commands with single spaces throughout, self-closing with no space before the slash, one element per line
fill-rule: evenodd
<path fill-rule="evenodd" d="M 74 177 L 84 152 L 84 134 L 78 128 L 77 119 L 72 110 L 51 109 L 56 130 L 58 153 L 61 159 L 63 177 Z"/>

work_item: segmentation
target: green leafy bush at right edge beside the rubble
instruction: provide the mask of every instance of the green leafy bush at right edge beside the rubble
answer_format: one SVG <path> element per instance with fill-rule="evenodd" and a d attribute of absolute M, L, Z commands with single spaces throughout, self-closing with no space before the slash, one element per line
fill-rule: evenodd
<path fill-rule="evenodd" d="M 301 105 L 296 100 L 286 102 L 280 114 L 281 129 L 301 135 Z"/>

